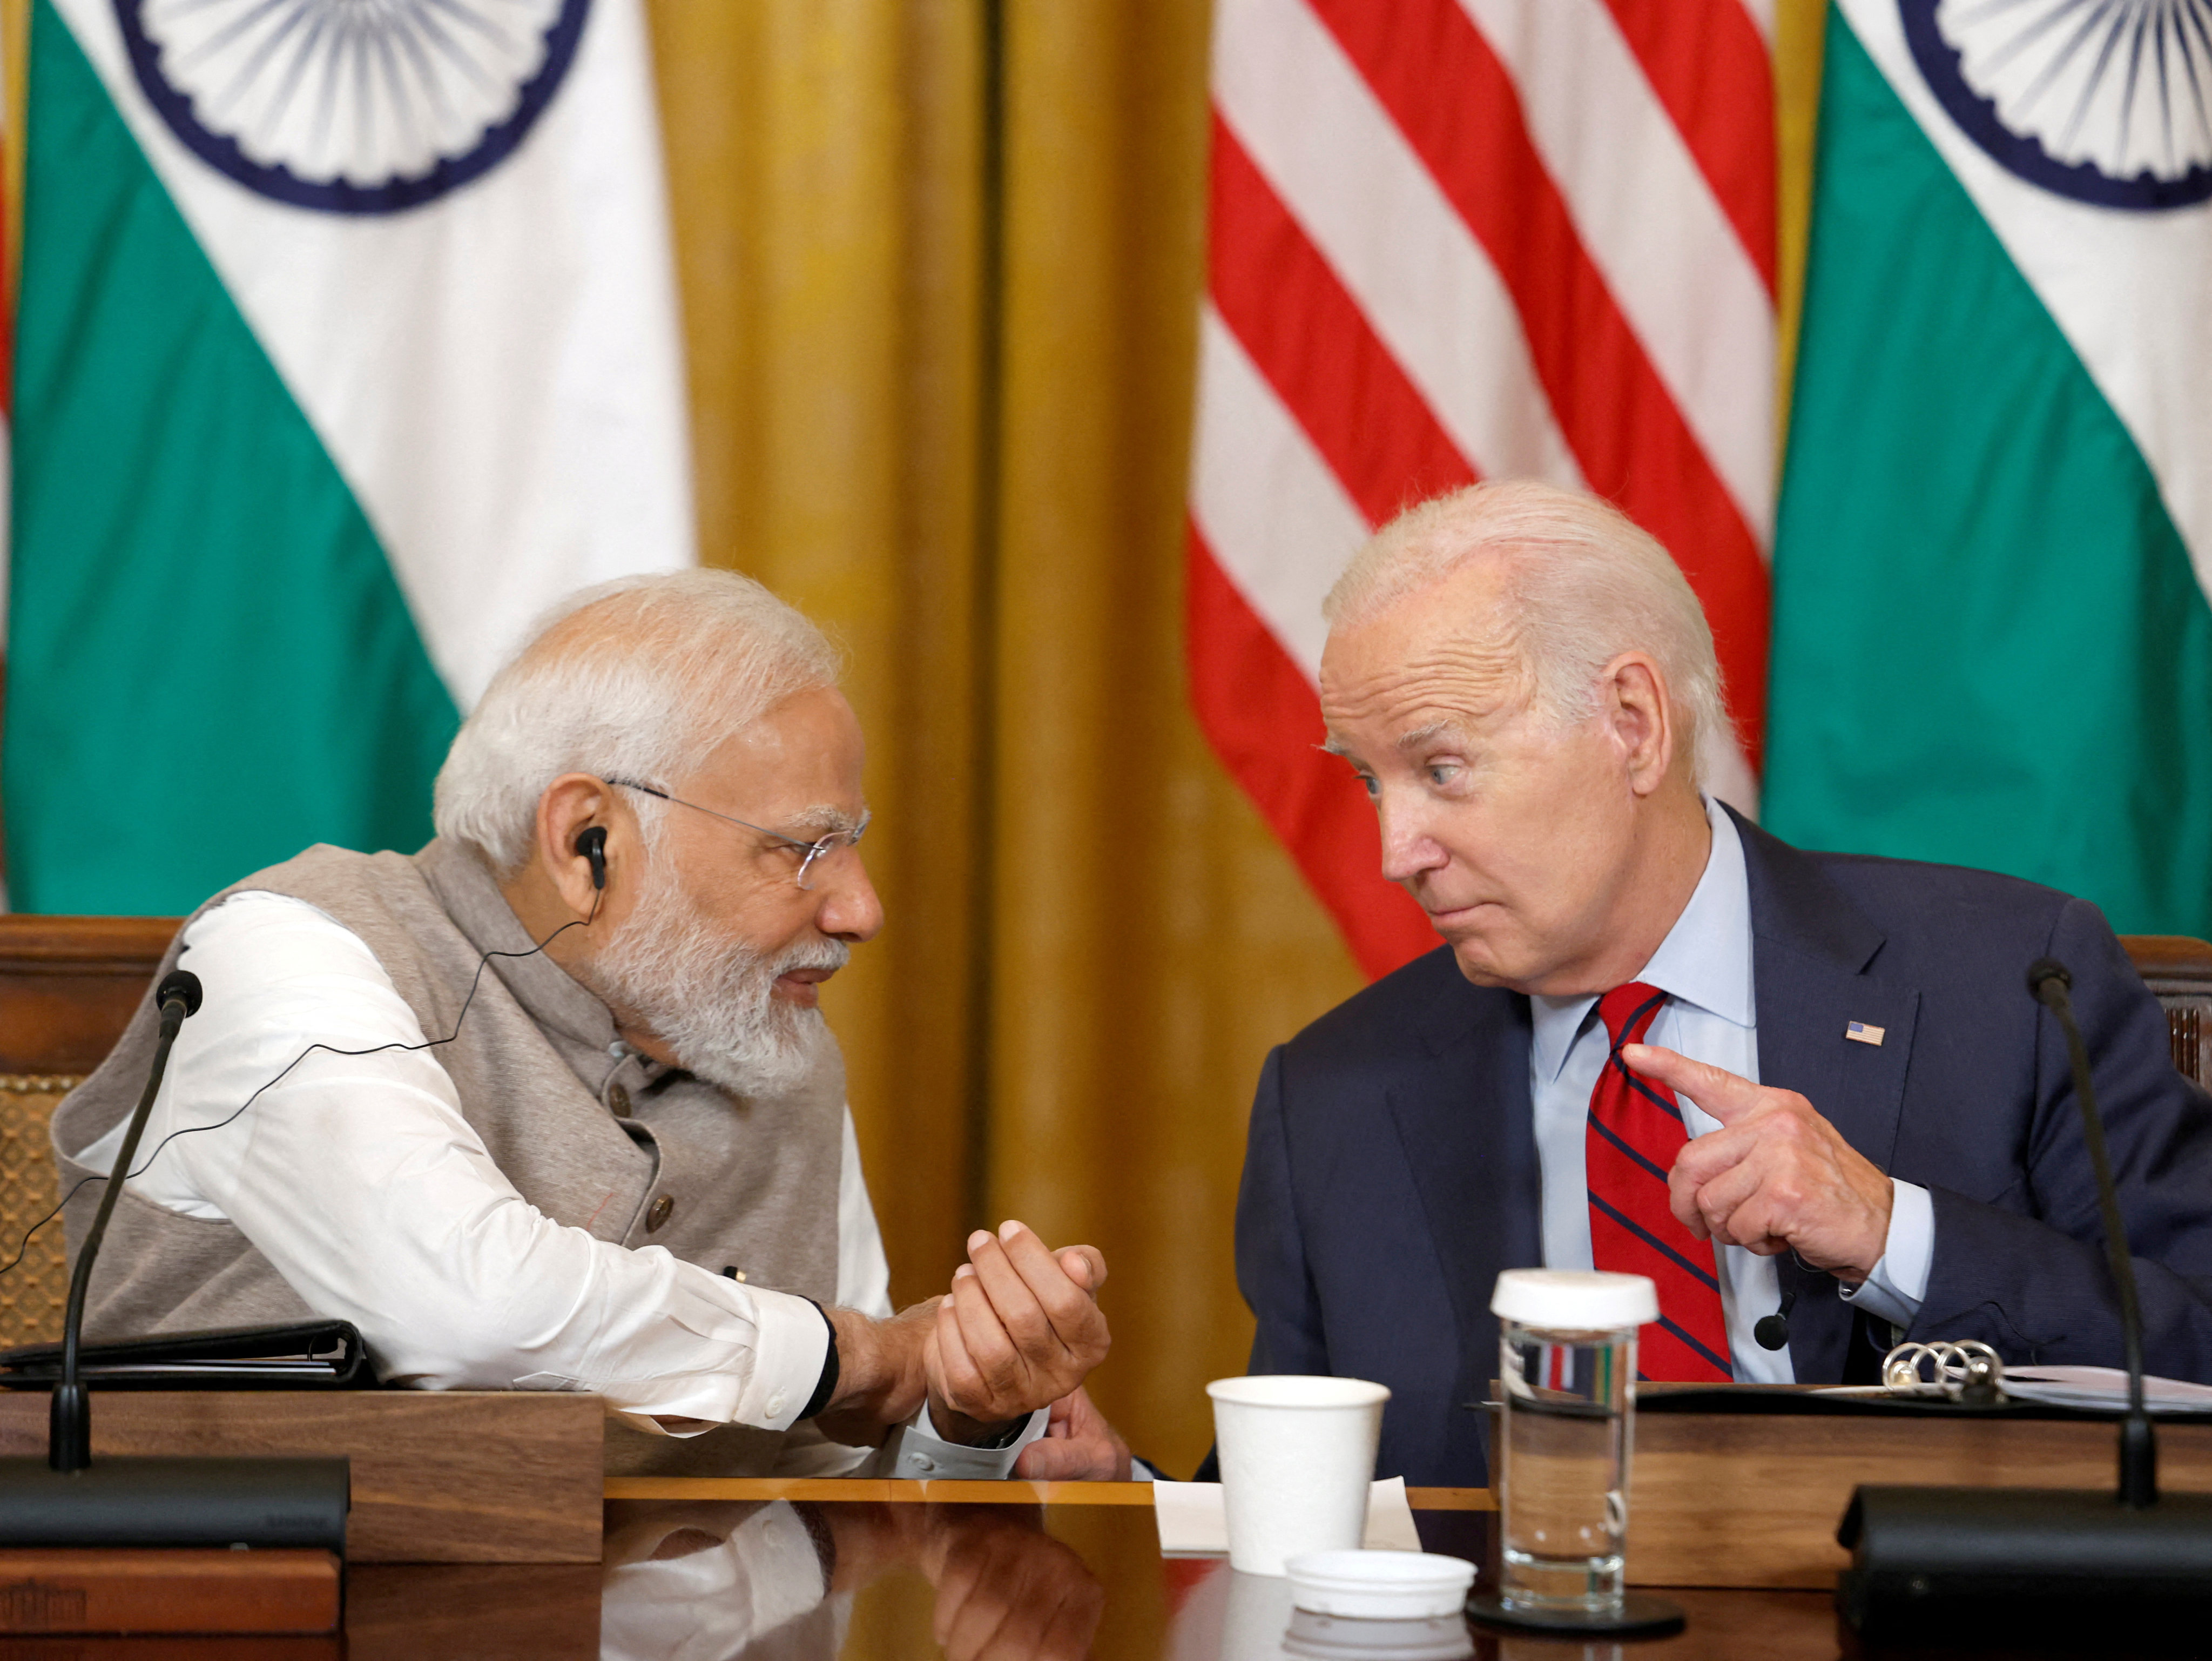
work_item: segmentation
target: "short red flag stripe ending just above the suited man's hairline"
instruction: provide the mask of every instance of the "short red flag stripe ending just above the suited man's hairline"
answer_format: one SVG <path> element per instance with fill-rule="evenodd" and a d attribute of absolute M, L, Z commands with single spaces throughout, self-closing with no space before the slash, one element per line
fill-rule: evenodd
<path fill-rule="evenodd" d="M 1473 482 L 1405 369 L 1219 119 L 1212 173 L 1214 307 L 1367 522 Z"/>

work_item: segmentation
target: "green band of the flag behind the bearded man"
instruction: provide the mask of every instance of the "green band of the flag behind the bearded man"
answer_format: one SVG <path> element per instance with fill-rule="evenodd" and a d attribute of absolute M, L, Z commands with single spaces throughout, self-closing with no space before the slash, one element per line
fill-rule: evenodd
<path fill-rule="evenodd" d="M 24 161 L 9 898 L 175 913 L 316 840 L 416 847 L 453 701 L 49 0 Z"/>

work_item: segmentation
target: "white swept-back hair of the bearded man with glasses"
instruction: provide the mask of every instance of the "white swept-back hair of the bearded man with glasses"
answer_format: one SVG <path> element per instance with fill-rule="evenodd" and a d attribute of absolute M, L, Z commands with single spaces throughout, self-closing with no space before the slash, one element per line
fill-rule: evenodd
<path fill-rule="evenodd" d="M 538 798 L 564 772 L 675 787 L 772 706 L 836 686 L 838 652 L 734 571 L 617 577 L 540 617 L 438 770 L 440 836 L 500 880 L 529 863 Z M 630 803 L 650 843 L 661 803 Z"/>

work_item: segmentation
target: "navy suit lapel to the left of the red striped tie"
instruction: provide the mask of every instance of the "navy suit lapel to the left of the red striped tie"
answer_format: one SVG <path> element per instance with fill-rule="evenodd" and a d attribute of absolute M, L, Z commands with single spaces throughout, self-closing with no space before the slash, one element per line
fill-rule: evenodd
<path fill-rule="evenodd" d="M 1391 1084 L 1389 1106 L 1458 1316 L 1460 1356 L 1473 1362 L 1495 1331 L 1498 1272 L 1544 1261 L 1528 1000 L 1453 973 L 1425 1013 L 1422 1040 L 1427 1064 Z M 1486 1382 L 1482 1373 L 1473 1387 Z"/>

